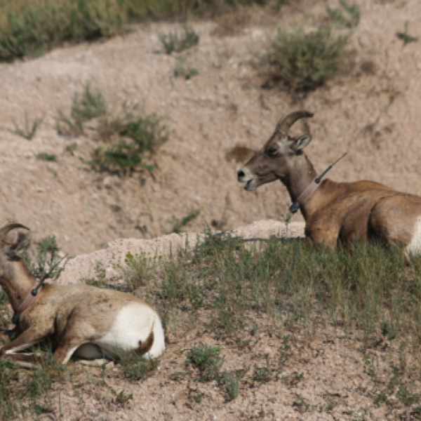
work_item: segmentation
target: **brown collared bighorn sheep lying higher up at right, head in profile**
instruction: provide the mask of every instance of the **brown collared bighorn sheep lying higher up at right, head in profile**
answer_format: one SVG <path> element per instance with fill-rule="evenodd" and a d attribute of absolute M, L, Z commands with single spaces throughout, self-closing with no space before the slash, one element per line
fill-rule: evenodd
<path fill-rule="evenodd" d="M 241 168 L 239 182 L 248 191 L 274 180 L 288 189 L 293 207 L 305 218 L 305 235 L 314 245 L 349 246 L 373 239 L 400 243 L 406 253 L 421 253 L 421 197 L 373 181 L 320 182 L 302 152 L 310 135 L 288 136 L 290 126 L 312 113 L 297 111 L 276 125 L 274 134 Z"/>

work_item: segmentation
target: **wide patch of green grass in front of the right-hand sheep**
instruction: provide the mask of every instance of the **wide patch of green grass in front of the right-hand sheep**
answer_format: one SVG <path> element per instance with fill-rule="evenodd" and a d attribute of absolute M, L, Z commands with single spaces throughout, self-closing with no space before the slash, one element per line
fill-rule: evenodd
<path fill-rule="evenodd" d="M 390 340 L 411 335 L 419 346 L 420 267 L 420 258 L 408 267 L 399 252 L 380 245 L 347 253 L 271 239 L 253 250 L 238 239 L 209 235 L 193 252 L 163 262 L 149 297 L 168 327 L 188 325 L 187 314 L 199 326 L 204 311 L 220 339 L 240 335 L 264 312 L 281 330 L 300 325 L 312 333 L 328 321 L 357 329 L 364 346 L 378 334 Z"/>

